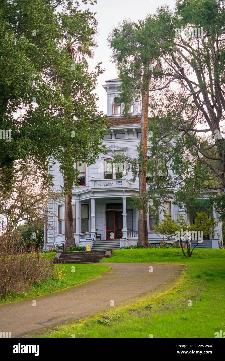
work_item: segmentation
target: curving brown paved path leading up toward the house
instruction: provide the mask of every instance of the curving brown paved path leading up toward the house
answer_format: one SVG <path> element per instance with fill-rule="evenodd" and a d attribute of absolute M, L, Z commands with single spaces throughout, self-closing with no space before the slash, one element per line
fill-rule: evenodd
<path fill-rule="evenodd" d="M 138 297 L 164 292 L 176 284 L 184 266 L 172 263 L 112 263 L 99 277 L 61 292 L 0 306 L 0 332 L 23 337 L 66 321 L 93 316 L 114 306 L 138 304 Z M 104 267 L 102 265 L 102 267 Z M 153 266 L 153 273 L 149 272 Z M 149 293 L 150 292 L 150 293 Z"/>

